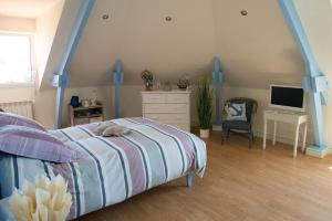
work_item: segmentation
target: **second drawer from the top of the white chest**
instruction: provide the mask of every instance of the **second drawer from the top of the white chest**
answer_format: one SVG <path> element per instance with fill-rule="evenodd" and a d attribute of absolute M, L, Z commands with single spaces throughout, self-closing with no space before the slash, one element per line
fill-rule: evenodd
<path fill-rule="evenodd" d="M 144 104 L 146 114 L 188 114 L 188 104 Z"/>

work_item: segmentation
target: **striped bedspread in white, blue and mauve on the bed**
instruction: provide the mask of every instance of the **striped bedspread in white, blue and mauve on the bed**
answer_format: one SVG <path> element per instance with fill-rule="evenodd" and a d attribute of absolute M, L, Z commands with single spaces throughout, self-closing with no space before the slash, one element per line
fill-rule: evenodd
<path fill-rule="evenodd" d="M 203 177 L 206 145 L 190 133 L 144 118 L 121 118 L 131 128 L 123 137 L 95 136 L 96 124 L 50 131 L 84 156 L 76 162 L 52 164 L 0 154 L 0 193 L 11 194 L 37 175 L 62 175 L 73 196 L 70 219 L 98 210 L 187 175 Z"/>

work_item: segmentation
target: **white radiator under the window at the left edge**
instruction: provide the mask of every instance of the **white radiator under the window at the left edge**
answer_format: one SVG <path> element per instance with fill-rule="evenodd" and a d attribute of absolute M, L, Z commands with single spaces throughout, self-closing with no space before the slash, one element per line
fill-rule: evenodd
<path fill-rule="evenodd" d="M 11 102 L 0 103 L 0 108 L 4 112 L 22 115 L 24 117 L 33 119 L 33 102 Z"/>

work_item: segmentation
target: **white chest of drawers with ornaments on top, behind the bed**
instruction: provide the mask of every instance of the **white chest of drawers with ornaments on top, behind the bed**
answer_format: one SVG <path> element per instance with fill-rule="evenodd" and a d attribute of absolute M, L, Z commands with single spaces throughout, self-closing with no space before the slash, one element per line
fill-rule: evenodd
<path fill-rule="evenodd" d="M 142 92 L 143 117 L 190 131 L 190 92 Z"/>

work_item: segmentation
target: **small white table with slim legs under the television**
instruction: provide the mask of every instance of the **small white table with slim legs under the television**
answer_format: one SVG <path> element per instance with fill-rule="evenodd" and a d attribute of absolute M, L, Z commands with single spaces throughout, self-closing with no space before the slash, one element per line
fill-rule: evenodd
<path fill-rule="evenodd" d="M 308 115 L 304 113 L 293 113 L 293 112 L 280 112 L 280 110 L 264 110 L 264 130 L 263 130 L 263 145 L 262 148 L 267 147 L 267 128 L 268 122 L 274 122 L 274 131 L 273 131 L 273 146 L 276 145 L 276 134 L 278 122 L 289 123 L 295 125 L 295 140 L 294 140 L 294 150 L 293 157 L 297 157 L 298 141 L 299 141 L 299 129 L 302 124 L 304 124 L 304 133 L 303 133 L 303 143 L 302 143 L 302 151 L 305 150 L 305 139 L 307 139 L 307 129 L 308 129 Z"/>

